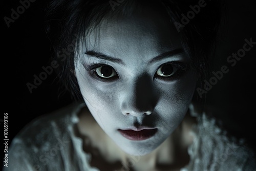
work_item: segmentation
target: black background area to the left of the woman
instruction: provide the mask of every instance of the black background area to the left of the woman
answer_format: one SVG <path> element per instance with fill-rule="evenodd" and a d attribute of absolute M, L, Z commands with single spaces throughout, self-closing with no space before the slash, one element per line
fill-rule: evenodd
<path fill-rule="evenodd" d="M 50 66 L 52 50 L 44 29 L 47 2 L 49 1 L 37 0 L 31 3 L 14 23 L 10 23 L 9 28 L 4 17 L 11 18 L 11 9 L 16 11 L 21 4 L 19 1 L 5 1 L 1 6 L 4 94 L 1 119 L 4 118 L 4 113 L 8 113 L 9 144 L 32 119 L 71 102 L 68 93 L 59 95 L 59 81 L 54 72 L 48 74 L 47 79 L 42 80 L 36 89 L 32 89 L 32 93 L 26 85 L 28 82 L 34 84 L 33 75 L 39 76 L 41 72 L 45 72 L 43 66 Z M 4 136 L 4 133 L 2 135 Z"/>

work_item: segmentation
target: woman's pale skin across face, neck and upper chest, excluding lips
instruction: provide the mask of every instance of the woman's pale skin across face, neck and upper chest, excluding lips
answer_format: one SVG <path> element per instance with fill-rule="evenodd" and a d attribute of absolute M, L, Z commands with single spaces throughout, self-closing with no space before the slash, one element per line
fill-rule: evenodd
<path fill-rule="evenodd" d="M 75 65 L 88 107 L 79 114 L 78 131 L 99 150 L 94 161 L 103 158 L 104 168 L 110 169 L 113 162 L 134 161 L 128 165 L 131 170 L 179 170 L 188 164 L 195 119 L 187 112 L 198 74 L 189 67 L 175 27 L 145 8 L 130 17 L 103 20 L 86 39 Z M 164 65 L 169 70 L 162 70 Z M 101 75 L 101 66 L 106 66 L 106 75 Z M 143 141 L 126 139 L 117 131 L 138 125 L 158 131 Z M 98 168 L 100 164 L 94 163 Z"/>

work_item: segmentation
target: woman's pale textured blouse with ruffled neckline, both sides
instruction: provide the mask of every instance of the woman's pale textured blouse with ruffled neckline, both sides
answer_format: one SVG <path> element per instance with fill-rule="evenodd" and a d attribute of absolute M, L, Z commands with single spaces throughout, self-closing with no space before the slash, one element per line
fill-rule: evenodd
<path fill-rule="evenodd" d="M 82 149 L 82 139 L 75 135 L 74 125 L 84 104 L 69 105 L 40 116 L 29 123 L 12 141 L 8 151 L 8 167 L 4 171 L 97 171 L 90 166 L 91 155 Z M 191 134 L 194 143 L 188 148 L 190 170 L 256 170 L 254 154 L 243 140 L 227 137 L 215 119 L 199 115 L 189 106 L 198 124 Z"/>

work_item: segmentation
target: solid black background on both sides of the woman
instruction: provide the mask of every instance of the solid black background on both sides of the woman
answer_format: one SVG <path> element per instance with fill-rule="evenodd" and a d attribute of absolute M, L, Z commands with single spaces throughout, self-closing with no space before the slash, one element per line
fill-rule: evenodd
<path fill-rule="evenodd" d="M 48 1 L 37 0 L 20 14 L 8 28 L 4 17 L 11 17 L 18 1 L 4 1 L 1 5 L 1 64 L 2 64 L 2 117 L 8 113 L 9 143 L 28 122 L 37 116 L 51 112 L 71 102 L 70 95 L 58 96 L 56 74 L 48 75 L 37 89 L 30 93 L 26 83 L 33 83 L 33 75 L 39 75 L 42 66 L 49 66 L 52 54 L 50 42 L 44 30 L 44 14 Z M 218 41 L 218 55 L 214 71 L 223 65 L 232 53 L 243 48 L 244 39 L 256 41 L 256 6 L 254 1 L 227 1 L 227 22 Z M 232 132 L 239 137 L 255 141 L 255 57 L 256 45 L 237 62 L 229 72 L 207 93 L 206 103 L 224 111 L 217 114 Z M 237 125 L 234 129 L 233 125 Z M 2 131 L 3 132 L 3 131 Z"/>

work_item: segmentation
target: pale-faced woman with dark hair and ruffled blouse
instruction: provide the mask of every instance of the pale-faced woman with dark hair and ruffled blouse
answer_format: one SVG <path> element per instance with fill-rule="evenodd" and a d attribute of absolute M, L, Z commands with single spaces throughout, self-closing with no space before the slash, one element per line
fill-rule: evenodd
<path fill-rule="evenodd" d="M 7 170 L 255 167 L 246 144 L 197 104 L 219 2 L 62 0 L 47 14 L 53 60 L 79 100 L 27 125 Z"/>

